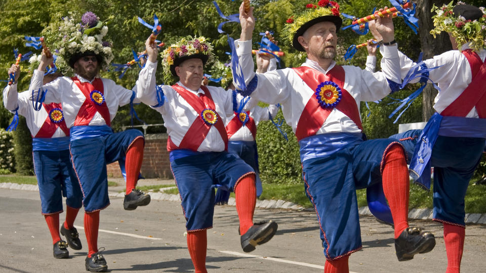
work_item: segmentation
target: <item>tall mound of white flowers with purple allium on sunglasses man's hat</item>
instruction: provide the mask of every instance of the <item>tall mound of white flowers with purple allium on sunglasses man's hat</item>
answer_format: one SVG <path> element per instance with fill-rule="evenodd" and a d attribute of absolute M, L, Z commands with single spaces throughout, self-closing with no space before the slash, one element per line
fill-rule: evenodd
<path fill-rule="evenodd" d="M 74 63 L 84 56 L 96 56 L 103 70 L 108 70 L 113 60 L 111 42 L 104 39 L 108 27 L 92 12 L 82 17 L 70 14 L 43 31 L 48 44 L 56 48 L 56 66 L 72 72 Z"/>

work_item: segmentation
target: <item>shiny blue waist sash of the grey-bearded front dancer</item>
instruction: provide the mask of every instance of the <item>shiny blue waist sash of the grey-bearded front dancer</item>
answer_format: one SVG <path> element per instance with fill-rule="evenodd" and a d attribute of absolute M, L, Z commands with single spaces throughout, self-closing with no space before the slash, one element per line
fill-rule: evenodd
<path fill-rule="evenodd" d="M 363 141 L 362 133 L 322 133 L 308 136 L 299 141 L 300 161 L 332 155 L 349 145 Z"/>

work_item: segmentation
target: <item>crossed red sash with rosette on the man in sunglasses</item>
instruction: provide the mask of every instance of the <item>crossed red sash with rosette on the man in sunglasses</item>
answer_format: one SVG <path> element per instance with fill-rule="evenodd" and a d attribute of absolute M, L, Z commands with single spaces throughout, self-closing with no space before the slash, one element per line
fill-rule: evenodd
<path fill-rule="evenodd" d="M 110 112 L 104 98 L 103 81 L 100 78 L 96 78 L 93 80 L 93 83 L 89 83 L 80 82 L 77 77 L 72 77 L 71 79 L 86 97 L 85 102 L 77 112 L 74 126 L 89 125 L 97 112 L 105 120 L 106 125 L 111 126 Z"/>

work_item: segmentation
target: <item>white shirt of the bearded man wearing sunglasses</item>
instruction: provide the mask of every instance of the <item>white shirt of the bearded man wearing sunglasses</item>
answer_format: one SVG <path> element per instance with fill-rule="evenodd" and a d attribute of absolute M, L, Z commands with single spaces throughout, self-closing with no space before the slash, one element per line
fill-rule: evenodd
<path fill-rule="evenodd" d="M 75 76 L 80 82 L 92 83 L 92 81 L 89 81 L 79 75 Z M 33 93 L 34 100 L 37 98 L 39 88 L 42 87 L 46 91 L 46 99 L 44 103 L 62 103 L 66 125 L 68 128 L 72 127 L 80 107 L 87 98 L 69 77 L 59 77 L 42 86 L 43 79 L 44 72 L 34 70 L 29 86 L 29 91 Z M 132 90 L 117 85 L 111 79 L 101 78 L 101 80 L 103 81 L 103 96 L 105 97 L 105 103 L 110 113 L 110 119 L 113 120 L 118 107 L 130 103 Z M 134 90 L 136 90 L 136 86 L 134 87 Z M 140 101 L 136 99 L 134 100 L 134 103 L 139 102 Z M 100 113 L 96 112 L 89 125 L 106 125 L 106 121 L 103 119 Z"/>

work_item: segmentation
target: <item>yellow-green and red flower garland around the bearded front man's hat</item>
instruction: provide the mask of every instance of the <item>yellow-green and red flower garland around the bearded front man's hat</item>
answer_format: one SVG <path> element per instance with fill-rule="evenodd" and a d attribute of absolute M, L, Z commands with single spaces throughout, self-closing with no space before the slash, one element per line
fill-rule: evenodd
<path fill-rule="evenodd" d="M 293 15 L 287 19 L 282 30 L 283 39 L 294 46 L 295 33 L 307 22 L 322 16 L 340 16 L 339 5 L 334 1 L 320 0 L 317 4 L 307 4 L 300 15 Z"/>

